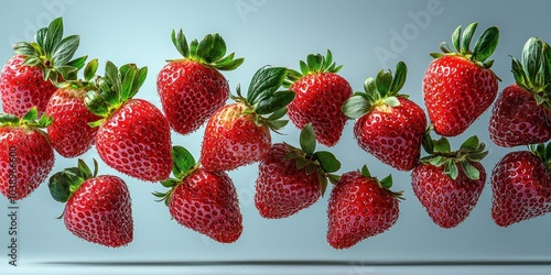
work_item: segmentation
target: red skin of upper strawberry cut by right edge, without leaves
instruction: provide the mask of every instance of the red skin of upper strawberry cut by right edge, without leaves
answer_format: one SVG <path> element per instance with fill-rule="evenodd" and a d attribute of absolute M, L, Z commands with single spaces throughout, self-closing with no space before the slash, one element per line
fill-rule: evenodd
<path fill-rule="evenodd" d="M 545 143 L 551 140 L 551 110 L 514 84 L 505 88 L 489 118 L 489 138 L 503 147 Z"/>

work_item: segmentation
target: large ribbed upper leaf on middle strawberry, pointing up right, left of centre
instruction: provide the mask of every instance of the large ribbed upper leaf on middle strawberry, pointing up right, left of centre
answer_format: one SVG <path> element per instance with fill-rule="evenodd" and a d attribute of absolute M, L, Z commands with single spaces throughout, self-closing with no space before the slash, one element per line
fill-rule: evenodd
<path fill-rule="evenodd" d="M 264 97 L 276 92 L 287 77 L 288 69 L 284 67 L 261 67 L 258 69 L 249 85 L 247 101 L 256 105 Z"/>

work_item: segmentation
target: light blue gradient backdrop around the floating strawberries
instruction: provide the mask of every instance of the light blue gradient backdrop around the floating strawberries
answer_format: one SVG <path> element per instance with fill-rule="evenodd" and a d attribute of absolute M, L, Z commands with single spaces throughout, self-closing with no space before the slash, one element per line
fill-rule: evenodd
<path fill-rule="evenodd" d="M 430 6 L 430 7 L 428 7 Z M 510 57 L 519 57 L 530 36 L 551 42 L 548 1 L 291 1 L 291 0 L 208 0 L 208 1 L 85 1 L 43 0 L 2 1 L 0 3 L 0 61 L 12 56 L 11 43 L 31 40 L 30 33 L 62 15 L 65 34 L 79 34 L 77 55 L 106 59 L 117 65 L 137 63 L 149 67 L 149 76 L 138 98 L 160 106 L 155 91 L 158 72 L 164 59 L 177 58 L 172 45 L 172 29 L 183 29 L 188 40 L 207 33 L 220 33 L 229 52 L 246 57 L 235 72 L 224 73 L 235 91 L 244 88 L 263 65 L 299 67 L 309 53 L 329 48 L 341 75 L 354 90 L 380 69 L 393 69 L 398 61 L 408 64 L 409 74 L 402 92 L 423 106 L 421 80 L 442 41 L 450 43 L 457 25 L 479 22 L 475 37 L 490 25 L 500 28 L 500 43 L 491 58 L 503 89 L 514 81 Z M 429 11 L 432 12 L 429 13 Z M 420 13 L 421 12 L 421 13 Z M 422 25 L 411 14 L 431 14 Z M 423 18 L 424 20 L 425 18 Z M 424 24 L 426 23 L 426 24 Z M 403 34 L 406 31 L 406 34 Z M 400 44 L 395 33 L 407 40 Z M 406 43 L 403 43 L 406 42 Z M 378 57 L 386 51 L 388 58 Z M 423 106 L 424 109 L 424 106 Z M 464 134 L 452 139 L 454 146 L 477 134 L 488 145 L 483 161 L 490 174 L 495 163 L 507 152 L 488 138 L 489 111 Z M 372 174 L 393 175 L 395 190 L 404 190 L 400 219 L 388 232 L 344 251 L 333 250 L 325 241 L 327 196 L 315 206 L 283 220 L 262 219 L 252 201 L 257 166 L 229 173 L 238 190 L 245 230 L 234 244 L 219 244 L 171 220 L 163 204 L 152 191 L 163 190 L 150 184 L 123 177 L 130 187 L 134 240 L 127 248 L 107 249 L 84 242 L 56 220 L 63 205 L 55 202 L 43 184 L 31 197 L 19 202 L 19 261 L 25 263 L 100 262 L 185 262 L 185 261 L 343 261 L 343 262 L 478 262 L 551 261 L 551 217 L 526 221 L 510 228 L 497 227 L 490 219 L 489 179 L 477 207 L 457 228 L 435 226 L 411 190 L 410 173 L 397 172 L 379 163 L 356 145 L 349 121 L 342 141 L 331 148 L 343 163 L 341 173 L 368 164 Z M 298 131 L 289 124 L 285 135 L 273 134 L 273 142 L 298 144 Z M 173 143 L 186 146 L 198 156 L 203 128 Z M 85 155 L 88 162 L 97 154 Z M 99 161 L 99 158 L 98 158 Z M 76 164 L 57 156 L 54 172 Z M 101 174 L 117 173 L 101 164 Z M 117 173 L 117 175 L 121 176 Z M 328 189 L 331 191 L 331 189 Z M 328 194 L 328 193 L 327 193 Z M 0 267 L 8 266 L 8 201 L 0 199 Z"/>

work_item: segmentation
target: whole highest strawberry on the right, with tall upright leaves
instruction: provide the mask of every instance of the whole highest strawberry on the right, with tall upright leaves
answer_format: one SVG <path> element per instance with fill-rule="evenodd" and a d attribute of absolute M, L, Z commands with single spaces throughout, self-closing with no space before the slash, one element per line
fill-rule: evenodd
<path fill-rule="evenodd" d="M 499 29 L 487 29 L 469 50 L 477 23 L 462 34 L 458 26 L 452 35 L 456 53 L 443 42 L 444 53 L 431 54 L 435 59 L 423 77 L 423 100 L 434 131 L 443 136 L 456 136 L 484 113 L 497 96 L 497 76 L 486 61 L 496 50 Z"/>

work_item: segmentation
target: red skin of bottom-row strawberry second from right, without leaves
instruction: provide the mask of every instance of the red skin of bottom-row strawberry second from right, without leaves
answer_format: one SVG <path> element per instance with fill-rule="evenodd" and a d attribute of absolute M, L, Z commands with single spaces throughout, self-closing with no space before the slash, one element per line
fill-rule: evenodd
<path fill-rule="evenodd" d="M 460 174 L 455 180 L 444 174 L 444 166 L 421 163 L 412 172 L 413 193 L 441 228 L 457 227 L 478 202 L 486 172 L 480 163 L 471 164 L 480 172 L 478 180 L 467 178 L 461 165 L 457 165 Z"/>

